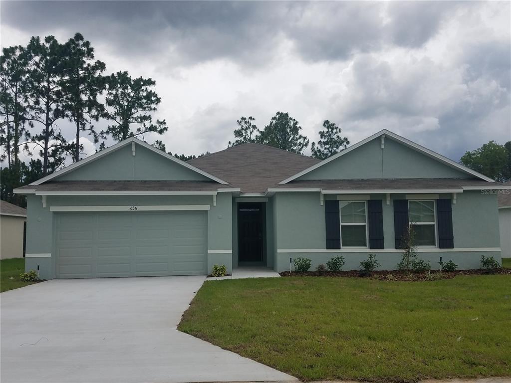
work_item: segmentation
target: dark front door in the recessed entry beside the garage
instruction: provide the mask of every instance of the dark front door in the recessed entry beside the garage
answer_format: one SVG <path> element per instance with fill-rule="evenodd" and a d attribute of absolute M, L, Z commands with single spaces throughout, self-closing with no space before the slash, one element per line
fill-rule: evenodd
<path fill-rule="evenodd" d="M 263 261 L 263 204 L 238 203 L 238 259 Z"/>

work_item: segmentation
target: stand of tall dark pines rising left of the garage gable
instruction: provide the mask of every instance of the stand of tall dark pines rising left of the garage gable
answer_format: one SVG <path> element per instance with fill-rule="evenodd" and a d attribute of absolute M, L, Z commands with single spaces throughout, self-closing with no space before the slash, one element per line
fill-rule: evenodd
<path fill-rule="evenodd" d="M 53 173 L 71 158 L 80 160 L 86 133 L 99 150 L 105 139 L 121 141 L 147 132 L 168 130 L 165 119 L 153 120 L 161 99 L 155 81 L 133 78 L 127 71 L 105 75 L 106 64 L 80 33 L 64 43 L 54 36 L 32 37 L 27 45 L 6 47 L 0 57 L 0 159 L 2 199 L 24 204 L 12 189 Z M 108 126 L 98 130 L 104 119 Z M 64 137 L 59 124 L 74 127 L 74 138 Z M 38 158 L 20 161 L 20 153 Z"/>

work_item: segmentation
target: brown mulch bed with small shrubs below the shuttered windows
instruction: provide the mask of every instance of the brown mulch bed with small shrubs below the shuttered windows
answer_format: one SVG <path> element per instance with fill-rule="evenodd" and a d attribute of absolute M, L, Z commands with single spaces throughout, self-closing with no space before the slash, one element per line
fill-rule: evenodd
<path fill-rule="evenodd" d="M 438 279 L 452 279 L 457 275 L 489 275 L 489 274 L 504 274 L 511 275 L 511 269 L 497 269 L 494 272 L 488 272 L 487 270 L 476 269 L 476 270 L 457 270 L 453 272 L 442 272 L 431 271 L 430 274 L 426 273 L 409 273 L 406 274 L 402 271 L 397 270 L 379 270 L 374 271 L 371 275 L 362 275 L 359 270 L 349 270 L 349 271 L 307 271 L 305 273 L 298 272 L 289 272 L 284 271 L 279 273 L 283 277 L 348 277 L 348 278 L 371 278 L 378 280 L 387 280 L 387 281 L 429 281 L 429 280 L 438 280 Z"/>

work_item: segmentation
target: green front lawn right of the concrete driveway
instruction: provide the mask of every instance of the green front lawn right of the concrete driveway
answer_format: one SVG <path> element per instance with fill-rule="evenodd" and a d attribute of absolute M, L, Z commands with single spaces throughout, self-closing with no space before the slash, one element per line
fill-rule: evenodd
<path fill-rule="evenodd" d="M 208 281 L 178 329 L 304 380 L 511 376 L 511 278 Z"/>

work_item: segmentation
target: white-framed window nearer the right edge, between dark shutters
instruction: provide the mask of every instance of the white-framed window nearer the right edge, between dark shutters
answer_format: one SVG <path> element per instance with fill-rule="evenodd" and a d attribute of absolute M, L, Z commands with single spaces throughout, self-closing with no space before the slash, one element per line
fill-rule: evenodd
<path fill-rule="evenodd" d="M 408 221 L 413 225 L 417 246 L 436 246 L 434 200 L 408 201 Z"/>

